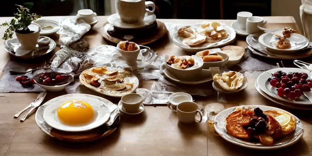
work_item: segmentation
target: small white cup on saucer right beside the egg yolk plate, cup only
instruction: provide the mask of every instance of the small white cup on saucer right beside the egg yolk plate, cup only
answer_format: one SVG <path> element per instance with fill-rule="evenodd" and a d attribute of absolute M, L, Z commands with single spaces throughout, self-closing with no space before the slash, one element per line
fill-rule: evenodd
<path fill-rule="evenodd" d="M 138 111 L 142 102 L 142 96 L 136 93 L 128 93 L 121 97 L 122 106 L 129 113 Z"/>

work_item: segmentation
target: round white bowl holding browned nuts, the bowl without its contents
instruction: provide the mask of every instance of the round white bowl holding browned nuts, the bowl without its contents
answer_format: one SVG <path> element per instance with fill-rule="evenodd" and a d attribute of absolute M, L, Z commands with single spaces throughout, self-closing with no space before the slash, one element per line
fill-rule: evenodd
<path fill-rule="evenodd" d="M 201 71 L 202 71 L 202 59 L 197 57 L 197 56 L 178 56 L 178 57 L 182 57 L 182 58 L 190 58 L 193 57 L 194 58 L 194 62 L 195 62 L 195 67 L 190 67 L 190 68 L 186 68 L 186 69 L 176 69 L 173 68 L 172 66 L 169 66 L 166 62 L 168 61 L 169 57 L 166 56 L 165 57 L 165 61 L 163 62 L 163 64 L 165 65 L 166 69 L 173 74 L 175 77 L 177 77 L 180 80 L 192 80 L 194 78 L 194 76 L 197 76 Z"/>

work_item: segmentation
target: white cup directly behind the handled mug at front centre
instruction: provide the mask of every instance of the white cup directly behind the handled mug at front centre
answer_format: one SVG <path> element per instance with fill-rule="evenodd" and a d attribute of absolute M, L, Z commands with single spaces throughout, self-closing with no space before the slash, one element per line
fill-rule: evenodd
<path fill-rule="evenodd" d="M 179 93 L 171 94 L 168 97 L 168 101 L 169 102 L 168 102 L 167 106 L 169 107 L 169 109 L 176 111 L 177 105 L 179 103 L 184 102 L 184 101 L 193 101 L 193 98 L 188 93 L 179 92 Z"/>

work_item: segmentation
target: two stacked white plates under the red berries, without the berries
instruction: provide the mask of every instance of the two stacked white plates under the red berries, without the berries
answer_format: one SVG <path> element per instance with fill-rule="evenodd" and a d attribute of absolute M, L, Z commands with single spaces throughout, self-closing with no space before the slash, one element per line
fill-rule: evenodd
<path fill-rule="evenodd" d="M 265 71 L 262 73 L 256 80 L 256 89 L 258 92 L 263 95 L 268 100 L 271 100 L 277 104 L 284 105 L 286 107 L 294 108 L 294 109 L 300 109 L 300 110 L 312 110 L 312 102 L 309 100 L 311 99 L 310 92 L 304 93 L 300 96 L 300 98 L 296 100 L 290 100 L 287 97 L 280 97 L 277 95 L 277 90 L 275 87 L 272 87 L 268 81 L 268 78 L 270 78 L 272 75 L 271 73 L 275 73 L 276 71 L 283 71 L 285 73 L 288 72 L 305 72 L 308 74 L 308 77 L 310 78 L 312 76 L 312 73 L 309 70 L 306 69 L 300 69 L 300 68 L 277 68 L 272 69 L 269 71 Z"/>

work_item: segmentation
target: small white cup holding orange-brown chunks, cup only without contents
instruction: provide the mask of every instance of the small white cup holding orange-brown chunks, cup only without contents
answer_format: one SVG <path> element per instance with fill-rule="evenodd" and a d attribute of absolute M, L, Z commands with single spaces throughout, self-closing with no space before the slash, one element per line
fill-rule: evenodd
<path fill-rule="evenodd" d="M 138 56 L 140 53 L 140 46 L 135 43 L 135 47 L 137 47 L 137 50 L 135 51 L 124 51 L 119 48 L 120 42 L 117 44 L 116 48 L 121 53 L 122 57 L 124 58 L 124 61 L 127 65 L 134 65 L 136 64 L 136 61 L 138 60 Z"/>

